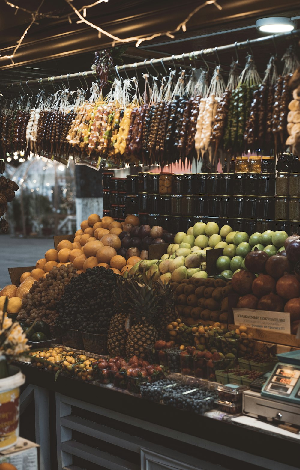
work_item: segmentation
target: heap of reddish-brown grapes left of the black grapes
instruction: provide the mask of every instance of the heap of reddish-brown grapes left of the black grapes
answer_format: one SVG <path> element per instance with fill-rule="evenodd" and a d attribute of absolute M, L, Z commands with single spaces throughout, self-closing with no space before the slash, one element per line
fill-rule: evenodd
<path fill-rule="evenodd" d="M 17 320 L 25 320 L 27 324 L 34 320 L 53 324 L 58 315 L 57 302 L 61 299 L 65 287 L 75 277 L 78 277 L 78 274 L 73 265 L 54 266 L 46 277 L 34 282 L 28 294 L 24 296 L 23 308 Z"/>

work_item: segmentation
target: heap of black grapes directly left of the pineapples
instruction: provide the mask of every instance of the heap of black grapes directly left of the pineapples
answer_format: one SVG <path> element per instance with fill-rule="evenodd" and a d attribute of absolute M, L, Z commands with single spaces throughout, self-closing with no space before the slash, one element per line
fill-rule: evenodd
<path fill-rule="evenodd" d="M 102 266 L 88 268 L 66 286 L 57 305 L 55 325 L 86 333 L 107 334 L 115 313 L 111 300 L 118 274 Z"/>

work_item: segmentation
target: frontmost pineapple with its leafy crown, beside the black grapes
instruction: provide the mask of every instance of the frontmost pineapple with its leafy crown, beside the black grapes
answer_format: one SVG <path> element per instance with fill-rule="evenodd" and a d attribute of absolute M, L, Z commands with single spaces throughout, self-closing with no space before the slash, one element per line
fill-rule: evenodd
<path fill-rule="evenodd" d="M 133 280 L 128 288 L 130 297 L 130 318 L 132 327 L 128 333 L 126 342 L 126 356 L 144 358 L 146 346 L 153 345 L 157 340 L 157 329 L 154 325 L 154 317 L 159 308 L 157 291 L 153 290 L 151 279 L 147 281 L 142 276 L 144 283 Z"/>

